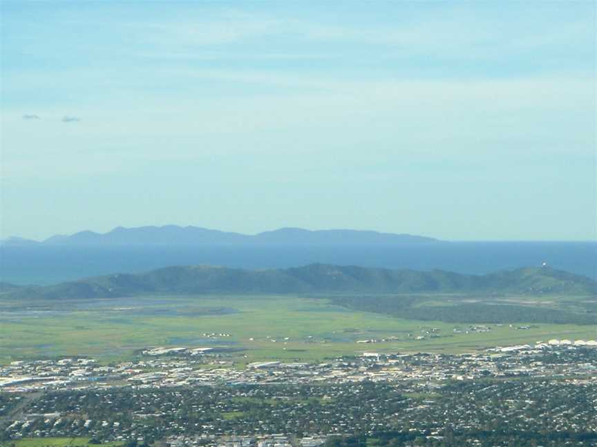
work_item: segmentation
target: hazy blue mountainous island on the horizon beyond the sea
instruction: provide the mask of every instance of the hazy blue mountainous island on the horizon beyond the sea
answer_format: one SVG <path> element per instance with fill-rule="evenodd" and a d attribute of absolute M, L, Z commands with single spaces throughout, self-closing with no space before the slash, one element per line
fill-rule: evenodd
<path fill-rule="evenodd" d="M 246 244 L 316 244 L 316 245 L 365 245 L 437 242 L 430 237 L 397 235 L 361 230 L 303 230 L 280 228 L 243 235 L 236 232 L 209 230 L 195 226 L 180 227 L 144 226 L 138 228 L 117 227 L 107 233 L 81 231 L 70 236 L 53 236 L 45 241 L 33 241 L 11 237 L 1 241 L 5 246 L 192 246 L 192 245 L 246 245 Z"/>

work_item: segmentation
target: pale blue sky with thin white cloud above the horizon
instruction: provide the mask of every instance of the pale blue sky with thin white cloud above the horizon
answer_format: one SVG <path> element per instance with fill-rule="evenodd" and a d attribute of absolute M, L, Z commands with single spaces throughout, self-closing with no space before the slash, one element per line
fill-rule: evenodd
<path fill-rule="evenodd" d="M 0 5 L 0 237 L 597 240 L 594 1 Z"/>

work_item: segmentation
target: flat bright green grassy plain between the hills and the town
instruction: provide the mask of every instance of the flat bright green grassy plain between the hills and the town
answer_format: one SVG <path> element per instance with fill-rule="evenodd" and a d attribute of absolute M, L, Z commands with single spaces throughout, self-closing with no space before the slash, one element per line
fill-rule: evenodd
<path fill-rule="evenodd" d="M 27 306 L 4 301 L 0 362 L 73 355 L 110 361 L 130 358 L 149 346 L 225 346 L 243 363 L 320 361 L 363 351 L 465 352 L 551 338 L 597 338 L 594 325 L 532 324 L 522 330 L 517 328 L 524 326 L 521 323 L 489 324 L 489 332 L 466 333 L 471 326 L 400 319 L 348 310 L 321 297 L 288 295 L 153 295 L 66 304 L 39 301 Z M 430 332 L 432 328 L 436 331 Z M 212 332 L 230 336 L 203 335 Z M 357 343 L 364 339 L 386 341 Z"/>

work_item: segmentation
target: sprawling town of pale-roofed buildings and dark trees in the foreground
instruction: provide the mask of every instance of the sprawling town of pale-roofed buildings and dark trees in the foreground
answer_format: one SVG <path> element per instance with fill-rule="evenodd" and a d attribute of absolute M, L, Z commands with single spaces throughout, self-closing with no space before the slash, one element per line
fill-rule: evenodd
<path fill-rule="evenodd" d="M 237 364 L 217 350 L 154 347 L 109 364 L 13 361 L 0 368 L 0 390 L 5 441 L 314 447 L 394 433 L 397 445 L 487 437 L 502 445 L 513 433 L 540 440 L 547 430 L 569 445 L 597 442 L 597 348 L 588 341 L 362 352 L 316 364 Z"/>

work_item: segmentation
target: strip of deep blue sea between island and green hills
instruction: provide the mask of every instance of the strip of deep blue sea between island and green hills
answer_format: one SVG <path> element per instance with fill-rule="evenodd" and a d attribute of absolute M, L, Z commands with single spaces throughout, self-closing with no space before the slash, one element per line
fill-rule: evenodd
<path fill-rule="evenodd" d="M 393 246 L 3 246 L 0 280 L 15 284 L 142 272 L 164 266 L 211 264 L 285 268 L 319 262 L 484 274 L 524 266 L 553 268 L 597 279 L 595 242 L 442 242 Z"/>

